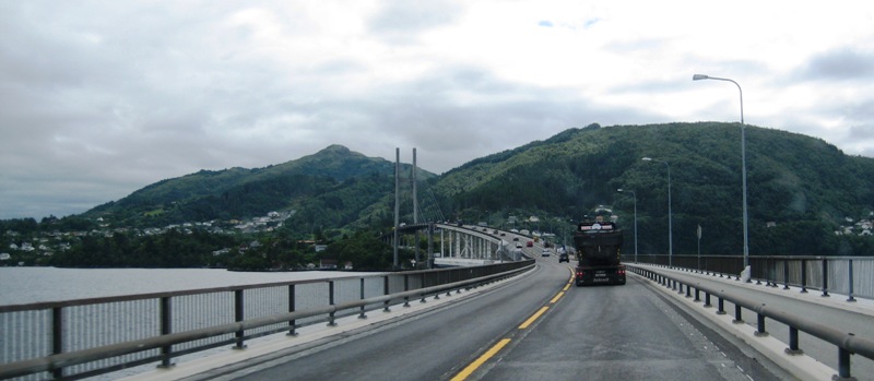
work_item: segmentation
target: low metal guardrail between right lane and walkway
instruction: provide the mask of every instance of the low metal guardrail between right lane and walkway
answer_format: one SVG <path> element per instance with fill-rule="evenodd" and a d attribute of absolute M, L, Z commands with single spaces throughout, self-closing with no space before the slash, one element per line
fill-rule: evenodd
<path fill-rule="evenodd" d="M 743 321 L 742 309 L 747 309 L 757 314 L 756 335 L 767 335 L 765 331 L 765 319 L 773 319 L 789 326 L 789 347 L 786 349 L 788 354 L 801 354 L 799 347 L 799 332 L 804 332 L 810 335 L 822 338 L 823 341 L 834 344 L 838 348 L 838 377 L 841 380 L 850 379 L 850 355 L 858 354 L 869 359 L 874 359 L 874 340 L 859 337 L 852 333 L 846 333 L 829 325 L 818 323 L 808 319 L 787 313 L 782 310 L 777 310 L 763 305 L 754 299 L 745 298 L 740 295 L 727 293 L 721 289 L 707 287 L 700 284 L 684 283 L 676 277 L 665 275 L 652 269 L 645 269 L 635 266 L 634 264 L 626 264 L 628 269 L 638 275 L 645 276 L 653 282 L 663 286 L 676 289 L 680 287 L 680 293 L 683 293 L 683 286 L 686 286 L 686 296 L 692 297 L 692 289 L 695 289 L 695 301 L 700 301 L 700 293 L 705 293 L 705 306 L 709 307 L 710 297 L 716 296 L 719 298 L 717 314 L 725 314 L 724 300 L 734 305 L 734 320 Z"/>

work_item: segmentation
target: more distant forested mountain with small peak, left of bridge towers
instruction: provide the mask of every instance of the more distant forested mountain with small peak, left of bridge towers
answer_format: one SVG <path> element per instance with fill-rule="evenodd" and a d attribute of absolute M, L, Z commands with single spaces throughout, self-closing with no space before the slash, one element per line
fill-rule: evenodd
<path fill-rule="evenodd" d="M 410 165 L 402 170 L 410 171 Z M 393 192 L 394 163 L 341 145 L 265 168 L 201 170 L 147 186 L 83 214 L 113 226 L 165 226 L 185 222 L 247 219 L 295 211 L 291 223 L 340 228 L 388 215 L 371 211 Z M 422 178 L 433 174 L 420 169 Z M 380 213 L 381 212 L 381 213 Z M 305 224 L 300 224 L 305 223 Z"/>

